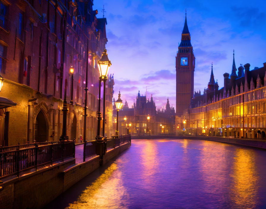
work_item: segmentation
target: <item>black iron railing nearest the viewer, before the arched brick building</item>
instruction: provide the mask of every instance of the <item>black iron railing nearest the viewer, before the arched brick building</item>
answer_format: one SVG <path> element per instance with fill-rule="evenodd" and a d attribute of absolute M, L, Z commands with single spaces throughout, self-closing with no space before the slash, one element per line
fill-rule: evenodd
<path fill-rule="evenodd" d="M 73 141 L 61 142 L 50 145 L 42 145 L 30 148 L 17 149 L 0 153 L 0 177 L 17 175 L 19 173 L 36 168 L 42 164 L 62 160 L 67 157 L 75 157 L 75 143 Z"/>

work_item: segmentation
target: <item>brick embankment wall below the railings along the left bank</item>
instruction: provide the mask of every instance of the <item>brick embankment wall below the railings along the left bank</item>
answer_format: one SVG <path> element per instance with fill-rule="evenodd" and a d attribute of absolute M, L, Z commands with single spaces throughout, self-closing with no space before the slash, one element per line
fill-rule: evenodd
<path fill-rule="evenodd" d="M 128 142 L 108 150 L 103 156 L 103 164 L 130 146 L 131 143 Z M 95 156 L 86 162 L 70 167 L 73 164 L 75 164 L 75 158 L 2 183 L 0 208 L 43 208 L 100 167 L 100 158 Z"/>

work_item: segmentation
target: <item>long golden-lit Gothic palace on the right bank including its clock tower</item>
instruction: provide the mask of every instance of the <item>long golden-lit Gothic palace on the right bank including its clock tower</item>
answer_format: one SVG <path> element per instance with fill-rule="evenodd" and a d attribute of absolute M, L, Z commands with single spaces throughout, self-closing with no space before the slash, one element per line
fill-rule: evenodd
<path fill-rule="evenodd" d="M 182 47 L 184 45 L 188 47 Z M 244 66 L 240 64 L 237 69 L 234 51 L 232 69 L 229 70 L 231 74 L 224 73 L 223 87 L 219 89 L 218 82 L 214 79 L 212 65 L 208 87 L 204 89 L 203 94 L 200 91 L 194 91 L 188 105 L 188 92 L 190 93 L 194 81 L 191 77 L 191 83 L 188 83 L 186 76 L 194 76 L 194 63 L 192 66 L 189 65 L 189 58 L 192 58 L 193 62 L 194 55 L 191 54 L 191 56 L 185 57 L 184 50 L 187 53 L 186 50 L 190 47 L 192 48 L 187 21 L 185 20 L 182 41 L 178 47 L 176 58 L 176 106 L 179 108 L 176 110 L 177 134 L 186 127 L 186 132 L 190 134 L 265 138 L 266 62 L 263 63 L 262 67 L 255 67 L 253 70 L 250 70 L 250 64 L 248 63 Z M 183 63 L 179 62 L 182 61 L 182 57 L 185 57 Z M 188 62 L 186 62 L 186 58 L 188 58 Z M 188 71 L 183 68 L 184 63 L 187 65 Z M 183 74 L 180 73 L 181 69 L 185 71 L 181 71 Z M 186 126 L 184 126 L 184 123 L 186 123 Z"/>

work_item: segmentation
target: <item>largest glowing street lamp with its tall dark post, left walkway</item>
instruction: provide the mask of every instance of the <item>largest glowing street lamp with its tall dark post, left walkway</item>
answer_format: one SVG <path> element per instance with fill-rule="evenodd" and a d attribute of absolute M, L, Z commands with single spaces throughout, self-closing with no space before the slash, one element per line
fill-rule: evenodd
<path fill-rule="evenodd" d="M 102 54 L 102 58 L 100 60 L 98 60 L 98 68 L 99 68 L 99 72 L 100 72 L 99 88 L 101 87 L 101 81 L 103 80 L 103 113 L 102 113 L 102 136 L 103 137 L 105 136 L 105 83 L 106 83 L 107 74 L 108 74 L 108 71 L 109 71 L 109 68 L 111 65 L 112 65 L 111 61 L 108 59 L 108 56 L 107 56 L 107 50 L 105 49 L 104 53 Z M 100 112 L 100 92 L 101 91 L 99 90 L 99 112 Z M 99 114 L 101 114 L 101 113 L 98 113 L 98 118 L 101 116 Z M 100 125 L 99 121 L 98 121 L 98 125 Z"/>

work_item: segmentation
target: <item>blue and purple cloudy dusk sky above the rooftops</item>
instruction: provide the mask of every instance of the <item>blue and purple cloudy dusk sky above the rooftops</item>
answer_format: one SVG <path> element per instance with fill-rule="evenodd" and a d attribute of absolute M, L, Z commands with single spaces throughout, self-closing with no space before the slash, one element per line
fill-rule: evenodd
<path fill-rule="evenodd" d="M 165 107 L 175 107 L 175 56 L 185 22 L 185 9 L 196 57 L 194 88 L 207 87 L 211 63 L 219 88 L 223 74 L 236 66 L 250 69 L 266 62 L 266 1 L 94 0 L 98 18 L 103 4 L 107 18 L 106 45 L 114 73 L 114 97 L 133 105 L 138 90 Z"/>

